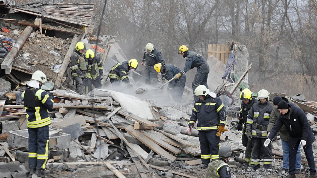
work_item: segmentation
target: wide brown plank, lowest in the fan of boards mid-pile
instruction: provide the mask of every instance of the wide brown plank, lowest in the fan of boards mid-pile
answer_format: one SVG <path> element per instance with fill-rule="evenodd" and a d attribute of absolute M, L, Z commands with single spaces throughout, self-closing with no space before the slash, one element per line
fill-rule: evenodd
<path fill-rule="evenodd" d="M 165 149 L 161 148 L 158 144 L 154 143 L 152 140 L 149 140 L 148 137 L 146 137 L 139 130 L 135 130 L 131 125 L 127 126 L 125 130 L 129 132 L 129 134 L 131 134 L 133 137 L 141 141 L 143 144 L 145 144 L 147 147 L 152 149 L 155 153 L 165 156 L 172 161 L 176 159 L 175 156 L 169 154 L 167 151 L 165 151 Z"/>

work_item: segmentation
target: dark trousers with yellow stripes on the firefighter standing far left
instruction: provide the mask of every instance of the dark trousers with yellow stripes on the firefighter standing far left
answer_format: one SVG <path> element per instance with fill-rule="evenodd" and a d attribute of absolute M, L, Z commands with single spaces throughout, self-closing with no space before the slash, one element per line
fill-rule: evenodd
<path fill-rule="evenodd" d="M 29 168 L 45 169 L 49 153 L 49 126 L 29 128 Z"/>

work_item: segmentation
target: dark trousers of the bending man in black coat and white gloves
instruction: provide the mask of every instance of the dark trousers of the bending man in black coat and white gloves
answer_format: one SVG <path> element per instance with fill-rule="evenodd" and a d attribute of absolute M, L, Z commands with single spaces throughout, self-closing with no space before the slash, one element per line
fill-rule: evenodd
<path fill-rule="evenodd" d="M 289 174 L 290 175 L 295 174 L 296 154 L 297 154 L 297 149 L 298 149 L 299 143 L 300 143 L 300 141 L 298 140 L 294 149 L 289 146 L 288 160 L 289 160 Z M 316 166 L 315 166 L 315 161 L 314 161 L 312 144 L 306 146 L 306 148 L 303 147 L 303 149 L 304 149 L 305 156 L 306 156 L 306 159 L 308 162 L 309 172 L 311 175 L 315 175 L 316 174 Z"/>

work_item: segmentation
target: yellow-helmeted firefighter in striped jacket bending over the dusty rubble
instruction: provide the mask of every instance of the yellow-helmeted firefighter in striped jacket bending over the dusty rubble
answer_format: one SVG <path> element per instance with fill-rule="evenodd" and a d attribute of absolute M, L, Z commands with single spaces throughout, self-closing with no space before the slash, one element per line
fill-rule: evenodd
<path fill-rule="evenodd" d="M 133 86 L 133 84 L 129 81 L 128 72 L 131 69 L 138 68 L 138 61 L 136 59 L 130 59 L 129 61 L 122 61 L 112 67 L 109 72 L 109 78 L 111 85 L 118 90 L 122 90 L 122 81 L 127 86 Z"/>

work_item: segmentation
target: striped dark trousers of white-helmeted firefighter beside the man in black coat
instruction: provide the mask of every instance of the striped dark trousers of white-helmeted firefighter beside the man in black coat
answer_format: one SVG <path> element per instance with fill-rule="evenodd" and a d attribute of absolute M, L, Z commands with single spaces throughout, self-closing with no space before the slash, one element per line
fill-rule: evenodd
<path fill-rule="evenodd" d="M 261 155 L 263 155 L 263 168 L 272 168 L 272 145 L 270 143 L 267 147 L 263 146 L 266 139 L 252 138 L 253 150 L 250 164 L 253 169 L 260 168 Z"/>

